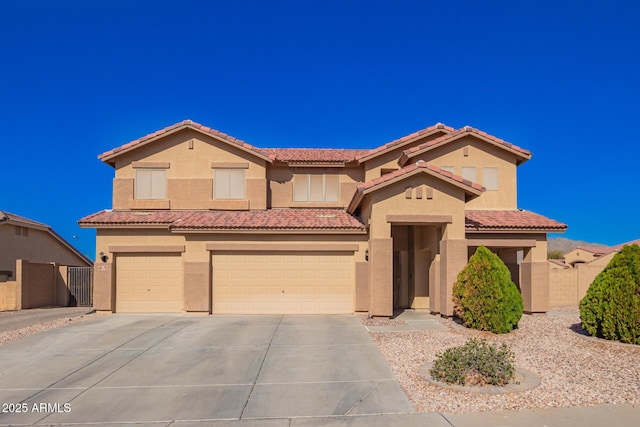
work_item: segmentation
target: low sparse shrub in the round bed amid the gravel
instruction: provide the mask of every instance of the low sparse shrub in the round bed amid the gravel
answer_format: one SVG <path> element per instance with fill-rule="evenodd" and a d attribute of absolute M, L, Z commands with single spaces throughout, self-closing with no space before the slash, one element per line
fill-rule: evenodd
<path fill-rule="evenodd" d="M 450 384 L 503 386 L 515 377 L 514 355 L 506 343 L 498 348 L 471 338 L 463 346 L 438 353 L 431 378 Z"/>

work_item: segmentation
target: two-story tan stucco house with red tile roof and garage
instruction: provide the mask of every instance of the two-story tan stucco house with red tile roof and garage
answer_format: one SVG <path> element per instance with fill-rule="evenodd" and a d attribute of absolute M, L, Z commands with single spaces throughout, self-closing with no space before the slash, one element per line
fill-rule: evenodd
<path fill-rule="evenodd" d="M 115 169 L 97 229 L 94 307 L 111 312 L 453 314 L 479 245 L 527 312 L 549 301 L 546 233 L 517 208 L 531 153 L 436 124 L 372 150 L 258 148 L 192 121 L 99 158 Z"/>

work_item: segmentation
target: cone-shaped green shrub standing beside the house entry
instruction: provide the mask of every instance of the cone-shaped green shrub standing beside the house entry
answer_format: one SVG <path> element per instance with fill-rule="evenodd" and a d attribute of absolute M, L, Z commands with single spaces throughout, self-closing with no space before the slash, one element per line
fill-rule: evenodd
<path fill-rule="evenodd" d="M 456 315 L 468 328 L 503 334 L 518 326 L 522 295 L 502 260 L 479 246 L 453 285 Z"/>

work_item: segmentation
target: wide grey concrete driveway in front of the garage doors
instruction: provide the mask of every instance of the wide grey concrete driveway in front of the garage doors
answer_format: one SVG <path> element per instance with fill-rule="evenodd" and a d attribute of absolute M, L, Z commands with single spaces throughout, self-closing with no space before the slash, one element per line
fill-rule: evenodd
<path fill-rule="evenodd" d="M 0 424 L 413 412 L 354 316 L 105 316 L 0 346 L 0 402 Z"/>

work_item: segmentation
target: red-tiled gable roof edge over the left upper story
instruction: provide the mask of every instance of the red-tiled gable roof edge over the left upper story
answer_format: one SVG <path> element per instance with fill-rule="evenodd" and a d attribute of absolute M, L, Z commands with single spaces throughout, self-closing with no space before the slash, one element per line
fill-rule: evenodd
<path fill-rule="evenodd" d="M 273 162 L 273 155 L 270 155 L 269 152 L 262 150 L 260 148 L 254 147 L 251 144 L 247 144 L 246 142 L 242 141 L 241 139 L 235 138 L 231 135 L 227 135 L 226 133 L 220 132 L 218 130 L 215 129 L 211 129 L 210 127 L 207 126 L 203 126 L 199 123 L 196 123 L 192 120 L 184 120 L 182 122 L 176 123 L 174 125 L 171 126 L 167 126 L 164 129 L 160 129 L 154 133 L 151 133 L 149 135 L 143 136 L 142 138 L 138 138 L 134 141 L 128 142 L 120 147 L 114 148 L 112 150 L 106 151 L 102 154 L 100 154 L 98 156 L 98 159 L 102 160 L 105 163 L 108 163 L 110 165 L 114 165 L 113 159 L 116 158 L 117 156 L 129 152 L 133 149 L 139 148 L 145 144 L 148 144 L 150 142 L 153 142 L 159 138 L 162 138 L 164 136 L 167 136 L 169 134 L 178 132 L 180 130 L 183 129 L 193 129 L 196 130 L 198 132 L 201 132 L 205 135 L 208 136 L 213 136 L 214 138 L 220 140 L 220 141 L 224 141 L 227 142 L 229 144 L 231 144 L 234 147 L 240 148 L 243 151 L 249 152 L 253 155 L 258 156 L 259 158 L 268 161 L 269 163 Z"/>

